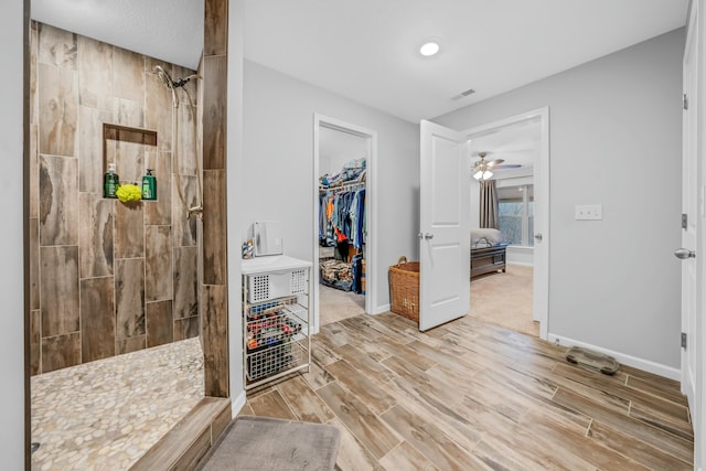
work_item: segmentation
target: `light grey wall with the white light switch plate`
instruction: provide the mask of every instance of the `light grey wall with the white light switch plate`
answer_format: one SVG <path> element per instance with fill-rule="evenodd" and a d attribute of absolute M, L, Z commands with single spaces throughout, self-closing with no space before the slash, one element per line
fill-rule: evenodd
<path fill-rule="evenodd" d="M 549 106 L 549 333 L 672 376 L 683 50 L 676 30 L 435 119 L 469 129 Z M 592 203 L 603 221 L 574 220 L 575 205 Z"/>

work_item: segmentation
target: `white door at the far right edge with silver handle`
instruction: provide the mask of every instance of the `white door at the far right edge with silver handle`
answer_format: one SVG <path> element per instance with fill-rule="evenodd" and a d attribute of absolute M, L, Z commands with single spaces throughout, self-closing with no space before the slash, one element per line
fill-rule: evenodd
<path fill-rule="evenodd" d="M 675 255 L 682 259 L 682 332 L 686 335 L 682 344 L 682 390 L 688 398 L 692 416 L 700 417 L 697 398 L 697 350 L 700 335 L 697 329 L 697 264 L 696 242 L 698 235 L 698 44 L 697 4 L 692 7 L 692 17 L 684 52 L 684 94 L 683 149 L 682 149 L 682 213 L 686 221 L 682 224 L 682 247 Z M 694 106 L 688 106 L 693 104 Z M 694 421 L 697 431 L 699 424 Z M 698 432 L 697 432 L 698 433 Z M 698 435 L 697 435 L 698 437 Z"/>

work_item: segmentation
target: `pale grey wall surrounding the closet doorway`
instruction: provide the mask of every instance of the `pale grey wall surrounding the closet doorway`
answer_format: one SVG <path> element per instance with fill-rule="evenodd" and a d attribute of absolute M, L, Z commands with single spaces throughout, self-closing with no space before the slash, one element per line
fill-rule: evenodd
<path fill-rule="evenodd" d="M 249 61 L 244 84 L 238 204 L 248 223 L 281 221 L 285 254 L 292 257 L 314 260 L 314 113 L 377 131 L 379 306 L 374 308 L 389 303 L 388 267 L 403 254 L 418 259 L 419 127 Z"/>

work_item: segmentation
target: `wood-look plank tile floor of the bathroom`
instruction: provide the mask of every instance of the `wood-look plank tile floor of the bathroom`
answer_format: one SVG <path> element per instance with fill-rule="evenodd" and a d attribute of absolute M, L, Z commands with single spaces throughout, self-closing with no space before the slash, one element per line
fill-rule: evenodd
<path fill-rule="evenodd" d="M 313 336 L 319 353 L 311 372 L 261 395 L 278 389 L 295 416 L 319 421 L 320 405 L 302 389 L 311 388 L 342 430 L 340 470 L 431 463 L 441 470 L 662 471 L 692 463 L 693 442 L 680 438 L 692 437 L 691 425 L 668 379 L 655 378 L 644 390 L 639 381 L 625 385 L 630 377 L 652 378 L 632 368 L 614 376 L 573 370 L 565 349 L 468 317 L 431 332 L 410 328 L 414 322 L 394 313 L 328 325 Z M 376 416 L 370 392 L 349 388 L 361 377 L 395 405 Z M 307 399 L 297 403 L 300 395 Z M 660 458 L 650 463 L 652 449 Z"/>

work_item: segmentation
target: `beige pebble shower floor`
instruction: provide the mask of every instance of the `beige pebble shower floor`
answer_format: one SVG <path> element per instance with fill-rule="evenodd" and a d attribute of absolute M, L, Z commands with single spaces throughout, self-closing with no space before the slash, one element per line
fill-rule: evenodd
<path fill-rule="evenodd" d="M 199 338 L 31 379 L 32 470 L 128 470 L 202 398 Z"/>

